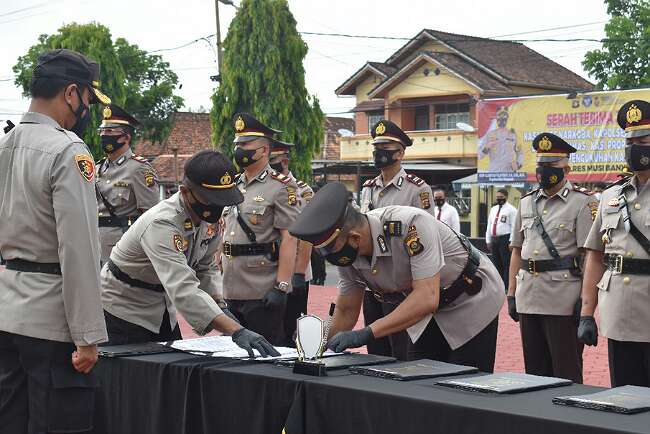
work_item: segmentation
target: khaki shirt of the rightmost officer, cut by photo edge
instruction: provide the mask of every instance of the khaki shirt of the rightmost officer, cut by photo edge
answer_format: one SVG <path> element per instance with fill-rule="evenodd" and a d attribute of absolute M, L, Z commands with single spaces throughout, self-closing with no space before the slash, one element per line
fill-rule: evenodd
<path fill-rule="evenodd" d="M 650 188 L 638 188 L 636 177 L 623 190 L 634 226 L 650 238 Z M 650 259 L 625 229 L 621 186 L 603 191 L 585 248 L 626 258 Z M 603 244 L 603 235 L 609 242 Z M 603 335 L 617 341 L 650 342 L 650 279 L 648 275 L 621 274 L 605 270 L 598 283 L 598 309 Z"/>

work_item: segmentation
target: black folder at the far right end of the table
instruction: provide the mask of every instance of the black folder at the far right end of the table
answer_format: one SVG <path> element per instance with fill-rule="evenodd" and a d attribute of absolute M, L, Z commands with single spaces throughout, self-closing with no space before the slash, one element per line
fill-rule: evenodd
<path fill-rule="evenodd" d="M 554 404 L 633 414 L 650 410 L 650 388 L 621 386 L 589 395 L 558 396 Z"/>

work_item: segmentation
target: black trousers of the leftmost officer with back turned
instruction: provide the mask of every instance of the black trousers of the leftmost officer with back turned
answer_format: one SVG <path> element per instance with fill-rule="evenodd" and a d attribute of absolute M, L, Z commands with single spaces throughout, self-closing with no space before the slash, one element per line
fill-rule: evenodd
<path fill-rule="evenodd" d="M 90 432 L 97 381 L 72 367 L 72 343 L 0 331 L 0 433 Z"/>

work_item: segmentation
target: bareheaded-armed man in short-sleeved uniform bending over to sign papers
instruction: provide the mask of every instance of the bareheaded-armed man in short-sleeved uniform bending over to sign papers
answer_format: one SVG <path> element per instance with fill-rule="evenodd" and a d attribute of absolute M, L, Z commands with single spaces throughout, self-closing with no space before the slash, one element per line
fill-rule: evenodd
<path fill-rule="evenodd" d="M 414 342 L 409 358 L 491 372 L 505 299 L 492 262 L 424 210 L 388 206 L 362 214 L 346 197 L 343 184 L 327 184 L 290 228 L 339 267 L 340 293 L 328 347 L 357 348 L 407 330 Z M 397 307 L 365 328 L 351 330 L 366 288 Z"/>

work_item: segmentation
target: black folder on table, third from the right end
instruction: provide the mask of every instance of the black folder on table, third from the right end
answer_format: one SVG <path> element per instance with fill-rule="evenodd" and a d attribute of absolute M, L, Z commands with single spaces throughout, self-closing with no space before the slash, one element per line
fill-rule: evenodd
<path fill-rule="evenodd" d="M 388 363 L 380 366 L 352 366 L 350 372 L 391 380 L 408 381 L 444 377 L 446 375 L 472 374 L 478 372 L 478 369 L 471 366 L 422 359 L 412 362 Z"/>

